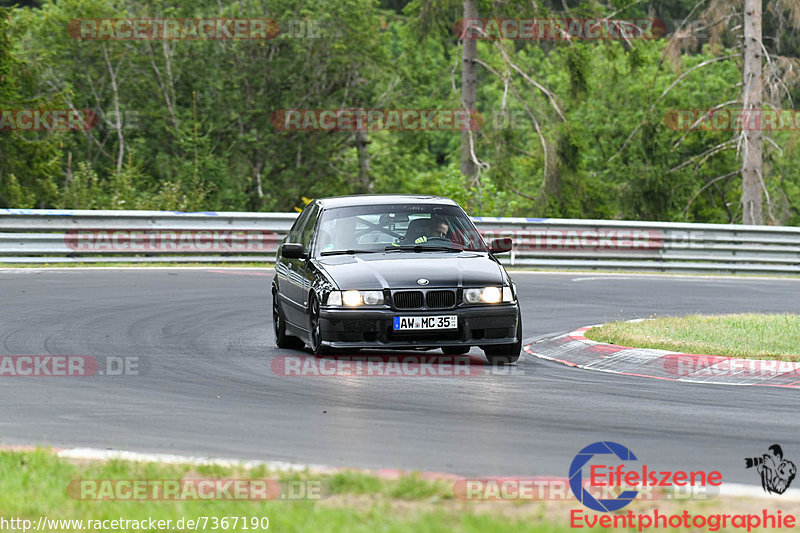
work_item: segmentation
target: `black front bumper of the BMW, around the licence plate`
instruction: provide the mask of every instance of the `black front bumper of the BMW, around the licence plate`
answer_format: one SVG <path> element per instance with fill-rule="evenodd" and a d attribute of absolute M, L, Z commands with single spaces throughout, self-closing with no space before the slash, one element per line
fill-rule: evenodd
<path fill-rule="evenodd" d="M 463 306 L 454 309 L 320 309 L 322 344 L 331 348 L 434 348 L 489 346 L 516 340 L 517 303 Z M 458 329 L 394 331 L 395 316 L 456 315 Z"/>

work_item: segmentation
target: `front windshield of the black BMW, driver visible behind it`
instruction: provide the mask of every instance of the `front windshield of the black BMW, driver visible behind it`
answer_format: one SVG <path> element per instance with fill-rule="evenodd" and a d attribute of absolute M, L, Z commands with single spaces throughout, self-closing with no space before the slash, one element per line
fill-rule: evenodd
<path fill-rule="evenodd" d="M 464 211 L 437 204 L 326 209 L 314 249 L 318 256 L 391 250 L 488 251 Z"/>

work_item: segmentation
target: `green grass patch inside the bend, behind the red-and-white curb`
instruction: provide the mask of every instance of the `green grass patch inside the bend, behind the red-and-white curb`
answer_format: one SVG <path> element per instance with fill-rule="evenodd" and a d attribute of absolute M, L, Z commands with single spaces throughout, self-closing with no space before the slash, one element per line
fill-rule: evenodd
<path fill-rule="evenodd" d="M 689 315 L 592 328 L 595 341 L 702 355 L 800 360 L 800 315 Z"/>

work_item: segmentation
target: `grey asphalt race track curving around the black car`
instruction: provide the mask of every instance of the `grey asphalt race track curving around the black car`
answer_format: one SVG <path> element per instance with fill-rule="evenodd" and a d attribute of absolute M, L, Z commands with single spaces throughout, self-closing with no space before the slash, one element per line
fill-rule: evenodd
<path fill-rule="evenodd" d="M 271 270 L 0 271 L 0 355 L 139 357 L 139 375 L 0 377 L 0 442 L 463 475 L 566 476 L 613 440 L 649 466 L 720 470 L 779 443 L 800 396 L 569 368 L 523 355 L 470 377 L 282 377 Z M 800 281 L 512 272 L 525 338 L 612 319 L 800 313 Z M 800 342 L 800 332 L 798 332 Z M 304 352 L 294 352 L 304 354 Z M 473 349 L 473 354 L 480 350 Z"/>

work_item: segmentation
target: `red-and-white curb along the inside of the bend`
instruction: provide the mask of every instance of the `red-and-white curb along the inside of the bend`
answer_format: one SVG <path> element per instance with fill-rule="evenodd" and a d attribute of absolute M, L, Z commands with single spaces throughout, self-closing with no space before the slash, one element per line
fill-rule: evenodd
<path fill-rule="evenodd" d="M 630 348 L 589 340 L 594 326 L 543 339 L 525 352 L 565 365 L 614 374 L 688 383 L 762 385 L 800 389 L 800 363 L 696 355 L 668 350 Z"/>

